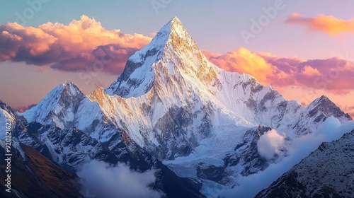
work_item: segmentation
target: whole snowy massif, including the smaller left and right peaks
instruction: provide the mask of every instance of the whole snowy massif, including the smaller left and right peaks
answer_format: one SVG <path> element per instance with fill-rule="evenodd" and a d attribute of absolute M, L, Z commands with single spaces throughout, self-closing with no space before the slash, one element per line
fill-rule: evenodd
<path fill-rule="evenodd" d="M 326 96 L 304 107 L 249 74 L 220 69 L 207 60 L 176 17 L 128 59 L 108 88 L 96 88 L 86 96 L 67 82 L 18 116 L 43 125 L 33 132 L 40 133 L 40 144 L 57 156 L 57 163 L 79 165 L 69 159 L 83 161 L 91 149 L 97 154 L 94 158 L 101 159 L 108 155 L 99 154 L 105 146 L 119 159 L 123 151 L 134 153 L 135 147 L 126 144 L 132 142 L 181 177 L 222 185 L 232 182 L 227 177 L 254 174 L 273 163 L 255 147 L 268 129 L 292 141 L 316 132 L 328 117 L 342 123 L 351 120 Z M 70 142 L 72 136 L 81 138 Z M 20 139 L 37 144 L 25 136 Z M 61 150 L 67 144 L 69 150 Z M 70 153 L 75 155 L 68 157 Z M 224 176 L 207 174 L 211 170 Z"/>

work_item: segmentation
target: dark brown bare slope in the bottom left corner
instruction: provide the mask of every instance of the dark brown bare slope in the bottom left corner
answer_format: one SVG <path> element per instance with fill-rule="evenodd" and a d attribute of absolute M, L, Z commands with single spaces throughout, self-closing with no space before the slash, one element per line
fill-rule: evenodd
<path fill-rule="evenodd" d="M 0 140 L 0 157 L 5 142 Z M 0 171 L 1 197 L 81 197 L 79 177 L 59 167 L 30 146 L 19 144 L 11 156 L 11 193 L 5 192 L 5 171 Z M 5 166 L 5 161 L 0 166 Z M 1 168 L 2 169 L 2 168 Z"/>

